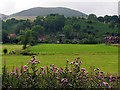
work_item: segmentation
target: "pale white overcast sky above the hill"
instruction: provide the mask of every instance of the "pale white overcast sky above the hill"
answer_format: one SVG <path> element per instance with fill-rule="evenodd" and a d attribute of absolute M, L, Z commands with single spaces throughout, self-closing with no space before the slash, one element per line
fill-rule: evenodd
<path fill-rule="evenodd" d="M 0 0 L 0 13 L 10 15 L 33 7 L 68 7 L 97 16 L 117 15 L 119 0 Z"/>

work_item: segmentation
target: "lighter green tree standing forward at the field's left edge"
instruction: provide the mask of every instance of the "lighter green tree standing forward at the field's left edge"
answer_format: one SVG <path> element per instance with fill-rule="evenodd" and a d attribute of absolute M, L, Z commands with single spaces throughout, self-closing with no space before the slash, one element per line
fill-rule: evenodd
<path fill-rule="evenodd" d="M 20 33 L 22 34 L 20 36 L 21 43 L 23 44 L 23 49 L 26 49 L 27 44 L 30 44 L 33 40 L 32 37 L 32 30 L 29 30 L 26 28 L 25 30 L 21 30 Z"/>

